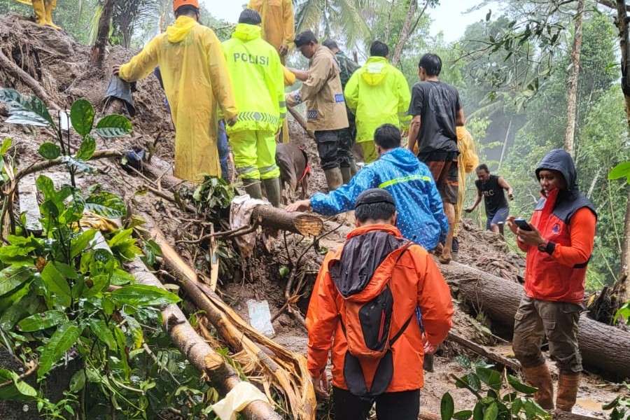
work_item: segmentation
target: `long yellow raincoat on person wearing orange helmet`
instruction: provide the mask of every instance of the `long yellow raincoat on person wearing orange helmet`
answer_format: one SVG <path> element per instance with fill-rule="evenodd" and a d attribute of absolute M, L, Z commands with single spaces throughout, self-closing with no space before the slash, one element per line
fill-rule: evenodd
<path fill-rule="evenodd" d="M 226 120 L 237 116 L 221 42 L 212 29 L 180 16 L 165 34 L 120 67 L 120 78 L 133 82 L 156 66 L 162 71 L 175 124 L 175 176 L 188 181 L 200 181 L 204 173 L 221 176 L 218 106 Z"/>

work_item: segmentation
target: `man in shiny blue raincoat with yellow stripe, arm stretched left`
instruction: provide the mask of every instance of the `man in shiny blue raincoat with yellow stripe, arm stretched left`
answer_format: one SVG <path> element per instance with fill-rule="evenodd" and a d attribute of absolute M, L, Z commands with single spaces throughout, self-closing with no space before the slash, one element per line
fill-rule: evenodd
<path fill-rule="evenodd" d="M 332 193 L 316 193 L 310 200 L 290 204 L 287 211 L 313 210 L 333 216 L 354 209 L 357 197 L 370 188 L 383 188 L 393 195 L 398 211 L 396 226 L 402 236 L 431 251 L 446 237 L 449 222 L 442 198 L 426 165 L 400 147 L 400 130 L 381 125 L 374 133 L 379 160 L 365 166 L 351 181 Z"/>

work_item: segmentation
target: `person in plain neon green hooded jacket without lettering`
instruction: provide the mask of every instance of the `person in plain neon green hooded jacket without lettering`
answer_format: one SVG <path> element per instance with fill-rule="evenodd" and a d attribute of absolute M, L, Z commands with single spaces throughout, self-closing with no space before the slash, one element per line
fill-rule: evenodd
<path fill-rule="evenodd" d="M 356 116 L 356 142 L 365 163 L 379 157 L 374 131 L 383 124 L 399 129 L 409 126 L 407 116 L 411 93 L 402 73 L 389 64 L 389 48 L 381 41 L 370 47 L 370 58 L 348 80 L 344 91 L 346 104 Z"/>

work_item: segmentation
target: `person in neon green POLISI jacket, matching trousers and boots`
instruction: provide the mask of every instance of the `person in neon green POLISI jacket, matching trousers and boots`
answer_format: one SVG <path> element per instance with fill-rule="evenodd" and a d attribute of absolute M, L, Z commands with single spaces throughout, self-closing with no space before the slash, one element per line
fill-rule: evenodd
<path fill-rule="evenodd" d="M 239 109 L 227 131 L 247 193 L 262 198 L 262 180 L 269 202 L 279 207 L 276 132 L 286 117 L 284 68 L 274 46 L 262 40 L 260 23 L 257 11 L 243 10 L 232 38 L 223 43 Z"/>

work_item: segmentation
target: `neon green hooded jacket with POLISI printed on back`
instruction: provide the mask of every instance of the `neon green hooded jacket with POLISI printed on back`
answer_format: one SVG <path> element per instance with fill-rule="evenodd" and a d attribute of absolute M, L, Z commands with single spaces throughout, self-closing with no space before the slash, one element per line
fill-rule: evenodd
<path fill-rule="evenodd" d="M 239 23 L 223 43 L 239 115 L 228 134 L 246 130 L 276 132 L 286 117 L 284 71 L 276 49 L 262 40 L 262 29 Z"/>

